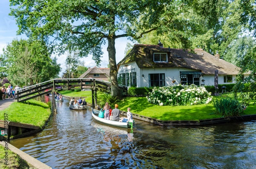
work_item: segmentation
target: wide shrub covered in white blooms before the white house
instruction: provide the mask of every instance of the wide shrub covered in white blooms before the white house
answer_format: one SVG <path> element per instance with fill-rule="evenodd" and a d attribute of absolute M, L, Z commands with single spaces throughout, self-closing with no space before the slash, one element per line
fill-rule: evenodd
<path fill-rule="evenodd" d="M 208 104 L 212 101 L 211 93 L 207 92 L 205 87 L 198 87 L 194 84 L 154 87 L 152 92 L 148 94 L 148 102 L 159 104 L 160 106 Z"/>

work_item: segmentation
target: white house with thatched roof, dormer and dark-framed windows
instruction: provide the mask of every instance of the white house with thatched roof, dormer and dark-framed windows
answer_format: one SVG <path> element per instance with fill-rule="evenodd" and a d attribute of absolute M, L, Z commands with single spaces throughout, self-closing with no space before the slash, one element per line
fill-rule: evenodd
<path fill-rule="evenodd" d="M 152 87 L 174 84 L 214 85 L 234 83 L 239 67 L 202 49 L 195 53 L 163 48 L 163 44 L 135 44 L 118 64 L 119 83 L 126 86 Z"/>

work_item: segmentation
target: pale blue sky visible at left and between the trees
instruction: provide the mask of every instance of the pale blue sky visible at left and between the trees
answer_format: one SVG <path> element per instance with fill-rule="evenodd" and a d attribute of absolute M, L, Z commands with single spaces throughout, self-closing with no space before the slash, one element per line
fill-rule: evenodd
<path fill-rule="evenodd" d="M 9 43 L 12 42 L 13 39 L 20 38 L 26 39 L 25 35 L 16 35 L 18 26 L 15 24 L 15 18 L 9 16 L 10 6 L 9 0 L 0 0 L 0 54 L 3 54 L 3 48 L 5 48 Z M 126 43 L 130 42 L 127 38 L 119 38 L 116 40 L 116 63 L 118 63 L 125 56 L 125 47 Z M 102 51 L 104 52 L 102 57 L 101 66 L 102 68 L 107 67 L 108 65 L 108 52 L 107 45 L 102 46 Z M 56 55 L 57 56 L 57 55 Z M 61 63 L 62 71 L 66 69 L 65 59 L 67 54 L 57 56 L 58 63 Z M 84 61 L 86 67 L 94 67 L 96 66 L 95 62 L 91 59 L 91 57 L 85 57 L 81 59 Z M 60 74 L 61 75 L 61 74 Z"/>

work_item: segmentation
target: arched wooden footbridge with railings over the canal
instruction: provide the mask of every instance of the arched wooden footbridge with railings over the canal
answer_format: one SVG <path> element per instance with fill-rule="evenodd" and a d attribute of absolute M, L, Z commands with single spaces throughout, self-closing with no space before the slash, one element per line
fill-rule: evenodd
<path fill-rule="evenodd" d="M 33 86 L 28 86 L 17 90 L 16 94 L 17 102 L 24 102 L 26 100 L 52 93 L 52 100 L 54 100 L 54 92 L 56 90 L 71 90 L 71 89 L 90 89 L 93 97 L 93 107 L 96 104 L 97 91 L 110 93 L 111 84 L 108 81 L 93 79 L 93 78 L 81 78 L 81 79 L 52 79 L 43 83 L 38 83 Z M 119 89 L 127 95 L 127 87 L 119 85 Z M 55 108 L 55 102 L 53 107 Z"/>

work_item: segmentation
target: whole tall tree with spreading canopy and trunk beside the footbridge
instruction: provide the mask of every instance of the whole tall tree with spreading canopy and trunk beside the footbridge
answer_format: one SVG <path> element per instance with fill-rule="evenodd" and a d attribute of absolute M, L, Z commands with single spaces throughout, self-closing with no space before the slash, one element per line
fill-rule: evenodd
<path fill-rule="evenodd" d="M 58 43 L 59 52 L 79 50 L 81 57 L 93 54 L 97 66 L 102 44 L 108 43 L 111 92 L 120 96 L 117 82 L 115 40 L 139 39 L 153 30 L 165 31 L 178 23 L 177 14 L 190 1 L 184 0 L 10 0 L 18 34 Z M 175 30 L 172 30 L 175 32 Z M 49 38 L 53 36 L 53 38 Z"/>

